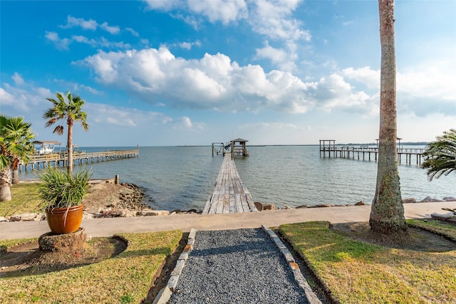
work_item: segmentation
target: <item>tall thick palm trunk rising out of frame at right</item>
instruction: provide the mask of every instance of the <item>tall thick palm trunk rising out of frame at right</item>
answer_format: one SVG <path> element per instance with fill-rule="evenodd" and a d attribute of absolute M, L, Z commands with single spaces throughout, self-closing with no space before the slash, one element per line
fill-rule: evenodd
<path fill-rule="evenodd" d="M 400 197 L 397 163 L 396 64 L 394 0 L 378 0 L 380 13 L 380 131 L 375 196 L 371 207 L 371 233 L 379 241 L 401 243 L 408 236 Z"/>

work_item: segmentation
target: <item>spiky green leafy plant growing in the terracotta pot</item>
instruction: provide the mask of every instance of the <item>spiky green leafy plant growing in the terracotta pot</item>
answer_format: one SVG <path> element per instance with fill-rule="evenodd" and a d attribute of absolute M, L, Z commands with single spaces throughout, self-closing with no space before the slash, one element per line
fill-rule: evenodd
<path fill-rule="evenodd" d="M 54 167 L 48 167 L 40 174 L 41 184 L 38 194 L 43 209 L 70 208 L 82 204 L 83 197 L 89 192 L 88 182 L 91 173 L 79 171 L 74 175 Z"/>

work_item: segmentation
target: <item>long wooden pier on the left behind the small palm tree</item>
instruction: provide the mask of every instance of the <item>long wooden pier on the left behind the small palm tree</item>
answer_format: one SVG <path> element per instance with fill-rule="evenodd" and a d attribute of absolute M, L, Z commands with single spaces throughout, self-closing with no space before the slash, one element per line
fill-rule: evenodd
<path fill-rule="evenodd" d="M 136 150 L 111 150 L 103 152 L 73 152 L 74 164 L 88 164 L 94 162 L 104 162 L 114 159 L 125 159 L 130 157 L 137 157 L 140 154 L 139 147 Z M 68 153 L 59 152 L 46 155 L 35 155 L 28 163 L 19 162 L 19 172 L 25 169 L 39 170 L 44 169 L 46 166 L 65 167 L 68 165 Z"/>

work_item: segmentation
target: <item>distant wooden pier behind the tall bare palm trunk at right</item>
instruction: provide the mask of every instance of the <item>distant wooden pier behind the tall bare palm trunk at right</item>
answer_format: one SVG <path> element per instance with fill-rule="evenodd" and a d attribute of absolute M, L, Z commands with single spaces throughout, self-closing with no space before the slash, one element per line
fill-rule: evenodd
<path fill-rule="evenodd" d="M 400 140 L 401 138 L 398 138 L 398 163 L 411 165 L 413 159 L 413 163 L 419 166 L 425 159 L 423 153 L 426 149 L 401 148 Z M 378 140 L 377 145 L 375 147 L 369 145 L 341 146 L 336 145 L 336 140 L 320 140 L 320 157 L 340 157 L 358 160 L 372 160 L 376 162 L 378 159 Z"/>

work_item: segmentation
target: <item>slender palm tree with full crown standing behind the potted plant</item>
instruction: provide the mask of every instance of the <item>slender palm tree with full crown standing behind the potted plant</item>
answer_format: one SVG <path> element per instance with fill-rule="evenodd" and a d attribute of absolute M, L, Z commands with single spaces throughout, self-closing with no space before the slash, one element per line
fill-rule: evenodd
<path fill-rule="evenodd" d="M 73 174 L 73 124 L 75 121 L 81 120 L 81 125 L 84 131 L 88 130 L 88 124 L 86 122 L 87 114 L 83 112 L 82 108 L 86 100 L 83 100 L 80 96 L 72 96 L 70 92 L 66 93 L 66 98 L 68 102 L 63 98 L 61 93 L 56 93 L 57 100 L 53 98 L 46 98 L 52 103 L 52 108 L 44 112 L 44 119 L 48 120 L 46 122 L 46 127 L 53 125 L 58 121 L 66 121 L 68 125 L 68 137 L 66 150 L 68 152 L 68 173 Z M 57 125 L 53 130 L 53 133 L 58 135 L 63 134 L 63 124 Z"/>

